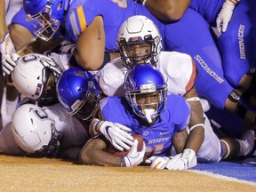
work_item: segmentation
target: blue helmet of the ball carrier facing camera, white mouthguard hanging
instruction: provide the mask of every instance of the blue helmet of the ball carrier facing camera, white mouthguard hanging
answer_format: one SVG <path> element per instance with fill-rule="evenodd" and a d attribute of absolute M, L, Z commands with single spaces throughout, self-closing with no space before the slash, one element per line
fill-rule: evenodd
<path fill-rule="evenodd" d="M 135 65 L 125 76 L 124 88 L 133 112 L 147 119 L 149 124 L 164 111 L 167 84 L 156 67 L 150 64 Z"/>

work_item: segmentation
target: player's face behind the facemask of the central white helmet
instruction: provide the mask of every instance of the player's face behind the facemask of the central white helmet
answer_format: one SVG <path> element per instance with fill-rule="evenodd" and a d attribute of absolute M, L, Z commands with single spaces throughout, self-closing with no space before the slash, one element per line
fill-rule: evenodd
<path fill-rule="evenodd" d="M 128 44 L 127 55 L 132 64 L 141 64 L 147 62 L 151 54 L 151 44 Z"/>

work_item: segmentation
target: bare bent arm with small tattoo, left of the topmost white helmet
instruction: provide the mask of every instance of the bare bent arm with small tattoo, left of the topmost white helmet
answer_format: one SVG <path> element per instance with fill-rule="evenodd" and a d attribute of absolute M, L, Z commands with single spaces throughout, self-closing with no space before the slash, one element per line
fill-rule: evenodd
<path fill-rule="evenodd" d="M 103 19 L 97 16 L 78 37 L 74 52 L 77 63 L 87 70 L 101 67 L 105 52 L 105 31 Z"/>

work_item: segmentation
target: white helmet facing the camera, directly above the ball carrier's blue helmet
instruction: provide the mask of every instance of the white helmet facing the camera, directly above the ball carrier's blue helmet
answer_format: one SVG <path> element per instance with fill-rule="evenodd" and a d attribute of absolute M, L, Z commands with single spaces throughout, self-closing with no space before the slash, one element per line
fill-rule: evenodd
<path fill-rule="evenodd" d="M 132 68 L 132 64 L 143 60 L 143 63 L 150 62 L 156 65 L 159 53 L 162 49 L 162 36 L 156 24 L 142 15 L 135 15 L 125 20 L 118 32 L 117 46 L 121 59 L 124 60 L 126 68 Z M 128 51 L 134 44 L 150 44 L 150 52 L 145 51 L 140 57 L 129 56 Z"/>

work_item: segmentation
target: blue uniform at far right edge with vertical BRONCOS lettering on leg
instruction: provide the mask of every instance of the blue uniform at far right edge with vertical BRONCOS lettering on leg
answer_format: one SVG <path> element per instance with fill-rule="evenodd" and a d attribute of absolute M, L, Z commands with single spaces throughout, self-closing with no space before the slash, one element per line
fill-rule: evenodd
<path fill-rule="evenodd" d="M 218 13 L 225 0 L 192 0 L 190 7 L 199 12 L 212 26 L 216 26 Z M 241 78 L 255 67 L 255 1 L 243 0 L 236 4 L 225 33 L 217 40 L 222 56 L 225 78 L 233 87 L 238 87 Z"/>

